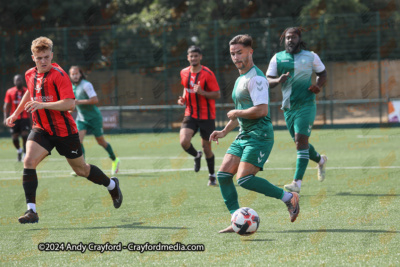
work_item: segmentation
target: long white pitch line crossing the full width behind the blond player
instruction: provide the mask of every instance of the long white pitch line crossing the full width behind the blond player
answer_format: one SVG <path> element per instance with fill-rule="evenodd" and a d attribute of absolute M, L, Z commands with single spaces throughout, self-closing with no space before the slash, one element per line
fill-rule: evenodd
<path fill-rule="evenodd" d="M 266 168 L 265 171 L 277 171 L 277 170 L 295 170 L 296 168 Z M 309 167 L 307 169 L 315 169 L 313 167 Z M 345 170 L 359 170 L 359 169 L 400 169 L 400 166 L 386 166 L 386 167 L 381 167 L 381 166 L 369 166 L 369 167 L 361 167 L 361 166 L 354 166 L 354 167 L 327 167 L 326 169 L 328 170 L 340 170 L 340 169 L 345 169 Z M 125 169 L 121 170 L 119 174 L 141 174 L 141 173 L 157 173 L 157 172 L 186 172 L 186 171 L 193 171 L 193 168 L 184 168 L 184 169 Z M 202 171 L 206 171 L 206 168 L 204 168 Z M 40 175 L 39 179 L 51 179 L 51 178 L 59 178 L 50 176 L 50 175 L 41 175 L 42 173 L 63 173 L 65 174 L 65 177 L 69 177 L 71 170 L 55 170 L 55 171 L 50 171 L 50 170 L 38 170 L 37 173 Z M 7 174 L 7 173 L 12 173 L 12 174 L 21 174 L 19 177 L 7 177 L 7 178 L 0 178 L 0 181 L 6 181 L 6 180 L 20 180 L 22 179 L 22 170 L 20 172 L 16 171 L 0 171 L 0 174 Z"/>

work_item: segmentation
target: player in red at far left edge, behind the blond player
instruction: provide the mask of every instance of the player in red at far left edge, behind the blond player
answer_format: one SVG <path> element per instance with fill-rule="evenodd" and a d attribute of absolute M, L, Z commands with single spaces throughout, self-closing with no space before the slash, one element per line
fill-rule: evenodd
<path fill-rule="evenodd" d="M 24 80 L 22 75 L 17 74 L 14 76 L 14 87 L 10 88 L 6 92 L 6 96 L 4 98 L 4 107 L 3 107 L 3 123 L 6 124 L 6 119 L 10 116 L 15 109 L 18 107 L 21 102 L 22 97 L 24 96 L 27 88 L 23 86 Z M 26 154 L 26 140 L 28 138 L 29 130 L 31 129 L 31 122 L 29 119 L 29 114 L 26 111 L 23 111 L 15 121 L 15 126 L 10 129 L 11 138 L 13 140 L 13 144 L 17 149 L 17 160 L 22 161 Z M 22 147 L 19 145 L 19 136 L 22 137 Z M 22 154 L 23 153 L 23 154 Z"/>

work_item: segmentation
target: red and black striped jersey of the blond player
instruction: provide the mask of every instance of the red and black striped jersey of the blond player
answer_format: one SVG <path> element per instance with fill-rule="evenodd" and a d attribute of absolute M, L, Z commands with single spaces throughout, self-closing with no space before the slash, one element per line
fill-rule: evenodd
<path fill-rule="evenodd" d="M 57 64 L 46 73 L 32 68 L 25 73 L 31 100 L 56 102 L 66 98 L 75 99 L 68 74 Z M 50 135 L 65 137 L 78 132 L 75 121 L 68 111 L 40 109 L 32 113 L 33 128 L 40 128 Z"/>

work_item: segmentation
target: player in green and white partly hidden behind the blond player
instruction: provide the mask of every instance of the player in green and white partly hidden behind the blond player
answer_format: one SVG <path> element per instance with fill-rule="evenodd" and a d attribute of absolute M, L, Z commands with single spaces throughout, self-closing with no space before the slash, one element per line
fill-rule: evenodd
<path fill-rule="evenodd" d="M 104 139 L 103 117 L 96 106 L 99 102 L 96 91 L 92 83 L 86 80 L 85 75 L 78 66 L 72 66 L 69 69 L 69 77 L 75 94 L 75 107 L 78 112 L 76 126 L 79 131 L 83 155 L 85 156 L 83 139 L 87 132 L 92 132 L 97 143 L 107 151 L 112 161 L 111 175 L 115 175 L 118 173 L 120 160 L 115 156 L 111 145 Z M 72 174 L 75 175 L 75 173 Z"/>

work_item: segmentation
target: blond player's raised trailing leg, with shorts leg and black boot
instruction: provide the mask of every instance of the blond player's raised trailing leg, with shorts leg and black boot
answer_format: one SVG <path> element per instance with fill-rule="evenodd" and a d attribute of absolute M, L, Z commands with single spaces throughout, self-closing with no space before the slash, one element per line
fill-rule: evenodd
<path fill-rule="evenodd" d="M 56 142 L 56 149 L 60 155 L 66 157 L 69 165 L 77 175 L 86 177 L 95 184 L 107 187 L 113 200 L 114 207 L 119 208 L 121 206 L 123 196 L 118 179 L 115 177 L 110 179 L 97 166 L 85 162 L 78 134 L 59 137 Z"/>

